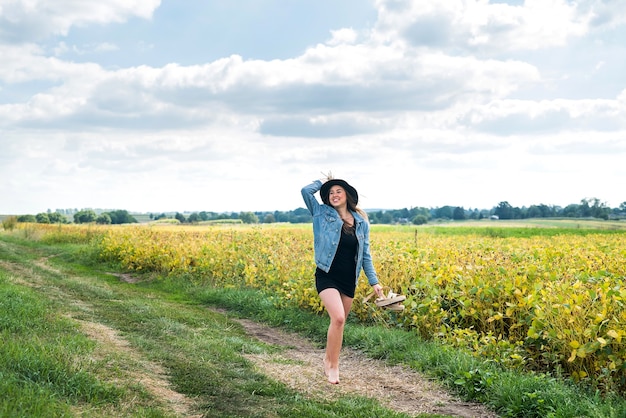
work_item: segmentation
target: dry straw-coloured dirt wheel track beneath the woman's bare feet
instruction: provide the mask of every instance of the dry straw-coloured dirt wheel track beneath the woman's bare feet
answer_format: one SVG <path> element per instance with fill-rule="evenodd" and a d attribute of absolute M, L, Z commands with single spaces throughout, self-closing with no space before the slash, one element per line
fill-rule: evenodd
<path fill-rule="evenodd" d="M 224 310 L 217 310 L 227 313 Z M 356 350 L 341 353 L 341 383 L 327 383 L 322 368 L 324 350 L 296 334 L 247 319 L 239 322 L 250 336 L 283 348 L 280 353 L 246 354 L 264 374 L 313 398 L 358 395 L 408 415 L 444 414 L 462 418 L 496 418 L 484 405 L 455 399 L 440 385 L 405 366 L 389 366 Z"/>

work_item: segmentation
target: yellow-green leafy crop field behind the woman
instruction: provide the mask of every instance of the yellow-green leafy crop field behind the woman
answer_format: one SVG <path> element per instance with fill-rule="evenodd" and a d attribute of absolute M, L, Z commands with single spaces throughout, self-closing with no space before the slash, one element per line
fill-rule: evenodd
<path fill-rule="evenodd" d="M 28 228 L 44 240 L 92 240 L 102 260 L 129 271 L 260 288 L 277 306 L 323 311 L 313 283 L 310 225 Z M 624 232 L 515 236 L 461 229 L 373 225 L 380 280 L 407 295 L 406 309 L 392 313 L 361 303 L 369 292 L 363 278 L 354 315 L 506 367 L 626 389 Z"/>

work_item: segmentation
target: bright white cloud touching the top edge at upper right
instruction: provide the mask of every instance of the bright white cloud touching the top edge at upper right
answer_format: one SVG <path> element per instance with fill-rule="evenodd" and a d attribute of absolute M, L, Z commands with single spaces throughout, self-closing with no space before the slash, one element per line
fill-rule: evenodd
<path fill-rule="evenodd" d="M 488 0 L 378 0 L 377 5 L 377 36 L 385 42 L 475 52 L 563 46 L 584 35 L 590 20 L 565 0 L 527 0 L 519 6 Z"/>

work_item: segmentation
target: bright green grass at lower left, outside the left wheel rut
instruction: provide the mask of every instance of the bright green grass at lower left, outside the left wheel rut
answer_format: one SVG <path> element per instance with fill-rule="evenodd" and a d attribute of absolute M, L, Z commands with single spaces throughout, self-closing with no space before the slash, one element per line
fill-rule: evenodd
<path fill-rule="evenodd" d="M 80 403 L 117 403 L 86 364 L 93 342 L 35 291 L 0 271 L 0 416 L 67 416 Z"/>

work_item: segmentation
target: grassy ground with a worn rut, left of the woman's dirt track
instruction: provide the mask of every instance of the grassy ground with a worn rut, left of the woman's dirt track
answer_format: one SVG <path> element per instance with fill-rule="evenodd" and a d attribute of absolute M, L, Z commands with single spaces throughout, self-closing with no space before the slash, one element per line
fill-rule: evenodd
<path fill-rule="evenodd" d="M 207 295 L 122 283 L 75 263 L 81 251 L 0 235 L 0 416 L 405 416 L 302 396 L 255 371 L 243 354 L 279 348 L 206 309 Z"/>

